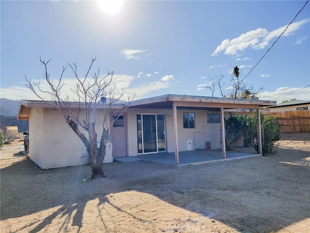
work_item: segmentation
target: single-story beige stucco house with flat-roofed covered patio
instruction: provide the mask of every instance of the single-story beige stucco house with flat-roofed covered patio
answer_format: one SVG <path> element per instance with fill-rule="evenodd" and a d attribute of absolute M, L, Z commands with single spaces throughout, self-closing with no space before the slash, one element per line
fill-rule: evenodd
<path fill-rule="evenodd" d="M 124 108 L 128 104 L 119 103 L 115 108 Z M 112 162 L 115 157 L 174 152 L 178 164 L 179 151 L 206 148 L 222 149 L 225 158 L 225 145 L 221 146 L 221 141 L 225 144 L 225 135 L 220 135 L 220 129 L 224 132 L 224 125 L 221 124 L 224 115 L 229 116 L 232 109 L 256 109 L 260 113 L 261 107 L 275 105 L 275 101 L 268 100 L 170 94 L 134 100 L 111 127 L 105 162 Z M 78 107 L 77 104 L 72 106 L 71 109 Z M 96 112 L 107 111 L 105 107 L 107 109 L 105 103 L 99 104 Z M 110 113 L 110 121 L 116 117 L 114 112 Z M 17 119 L 29 120 L 29 156 L 40 167 L 47 169 L 90 163 L 86 148 L 78 136 L 47 103 L 22 100 Z M 99 124 L 96 131 L 101 135 Z M 258 132 L 261 135 L 260 117 Z M 259 145 L 262 151 L 261 142 Z M 109 153 L 112 159 L 109 159 Z"/>

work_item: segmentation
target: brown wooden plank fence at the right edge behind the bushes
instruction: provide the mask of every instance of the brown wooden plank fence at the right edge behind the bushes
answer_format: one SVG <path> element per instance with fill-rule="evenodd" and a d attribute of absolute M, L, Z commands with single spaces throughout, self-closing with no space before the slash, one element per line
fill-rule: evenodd
<path fill-rule="evenodd" d="M 263 113 L 278 117 L 282 133 L 310 133 L 310 110 Z"/>

